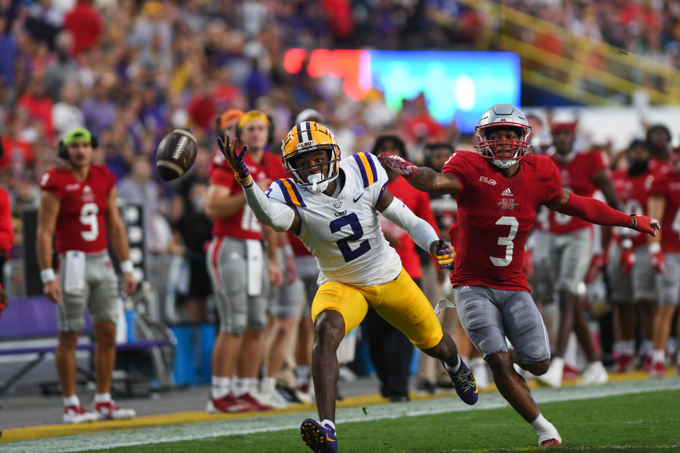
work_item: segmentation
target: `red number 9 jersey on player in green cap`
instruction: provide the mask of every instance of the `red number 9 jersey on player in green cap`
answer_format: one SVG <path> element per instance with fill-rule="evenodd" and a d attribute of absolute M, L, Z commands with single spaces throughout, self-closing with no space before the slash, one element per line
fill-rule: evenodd
<path fill-rule="evenodd" d="M 109 192 L 116 176 L 103 165 L 90 165 L 87 181 L 78 181 L 66 168 L 52 168 L 40 178 L 40 188 L 61 200 L 56 219 L 56 251 L 96 253 L 106 249 L 105 219 Z"/>

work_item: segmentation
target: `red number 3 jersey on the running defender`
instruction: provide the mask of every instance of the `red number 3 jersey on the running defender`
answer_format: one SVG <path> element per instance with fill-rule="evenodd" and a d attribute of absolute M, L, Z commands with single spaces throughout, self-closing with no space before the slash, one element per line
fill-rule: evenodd
<path fill-rule="evenodd" d="M 536 209 L 562 200 L 562 179 L 545 156 L 526 156 L 520 169 L 505 178 L 488 160 L 471 151 L 456 151 L 442 173 L 462 185 L 454 195 L 458 218 L 449 229 L 456 249 L 451 283 L 530 291 L 522 273 L 524 242 L 536 220 Z"/>

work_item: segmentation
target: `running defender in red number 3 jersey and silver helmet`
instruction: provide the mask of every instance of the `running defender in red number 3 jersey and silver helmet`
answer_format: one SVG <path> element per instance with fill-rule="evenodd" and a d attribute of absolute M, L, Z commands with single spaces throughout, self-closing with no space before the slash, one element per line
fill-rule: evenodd
<path fill-rule="evenodd" d="M 552 160 L 526 153 L 531 127 L 512 105 L 488 109 L 475 134 L 481 152 L 456 151 L 443 173 L 418 168 L 391 154 L 379 159 L 416 189 L 455 194 L 458 218 L 449 235 L 456 261 L 450 277 L 460 322 L 489 364 L 498 391 L 536 429 L 539 445 L 556 445 L 560 435 L 541 415 L 526 381 L 513 368 L 514 361 L 540 376 L 549 366 L 543 319 L 522 273 L 524 242 L 536 209 L 545 205 L 592 223 L 649 234 L 656 234 L 658 223 L 562 189 Z"/>

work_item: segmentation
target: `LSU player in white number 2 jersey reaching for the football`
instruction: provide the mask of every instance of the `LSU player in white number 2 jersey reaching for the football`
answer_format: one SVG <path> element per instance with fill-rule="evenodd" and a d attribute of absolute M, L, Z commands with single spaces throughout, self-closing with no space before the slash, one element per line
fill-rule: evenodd
<path fill-rule="evenodd" d="M 288 132 L 282 145 L 284 167 L 291 177 L 274 181 L 262 192 L 243 163 L 245 147 L 239 154 L 236 141 L 230 146 L 229 137 L 225 139 L 226 145 L 218 139 L 220 149 L 258 220 L 277 232 L 289 230 L 299 236 L 320 270 L 311 317 L 315 326 L 312 376 L 322 421 L 303 421 L 300 431 L 305 444 L 314 452 L 337 452 L 336 349 L 369 306 L 420 350 L 440 359 L 460 398 L 476 403 L 477 383 L 469 367 L 384 238 L 378 212 L 435 255 L 441 266 L 451 263 L 454 253 L 429 223 L 390 194 L 377 158 L 356 153 L 341 161 L 333 133 L 322 124 L 303 122 Z"/>

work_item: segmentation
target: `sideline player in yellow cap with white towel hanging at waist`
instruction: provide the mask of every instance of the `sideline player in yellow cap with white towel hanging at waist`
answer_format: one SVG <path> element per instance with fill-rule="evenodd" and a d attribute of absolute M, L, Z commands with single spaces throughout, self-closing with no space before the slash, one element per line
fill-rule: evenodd
<path fill-rule="evenodd" d="M 267 116 L 256 110 L 244 113 L 238 133 L 249 146 L 245 164 L 256 183 L 267 189 L 272 179 L 267 174 L 265 160 L 273 159 L 265 153 L 269 133 Z M 220 314 L 220 333 L 213 348 L 212 388 L 206 410 L 269 410 L 271 406 L 256 399 L 256 382 L 262 329 L 267 323 L 269 284 L 278 286 L 282 280 L 276 261 L 275 233 L 270 228 L 262 229 L 245 203 L 241 184 L 220 151 L 215 153 L 208 172 L 210 186 L 205 196 L 205 213 L 215 223 L 206 260 Z M 263 235 L 269 244 L 269 264 L 260 242 Z"/>

